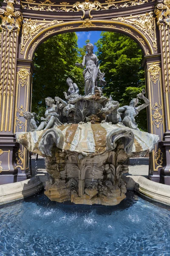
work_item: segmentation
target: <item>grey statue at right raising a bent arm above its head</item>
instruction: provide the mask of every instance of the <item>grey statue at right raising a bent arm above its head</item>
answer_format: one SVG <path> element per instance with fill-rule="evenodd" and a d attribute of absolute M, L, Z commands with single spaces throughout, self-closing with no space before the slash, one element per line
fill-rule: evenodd
<path fill-rule="evenodd" d="M 139 114 L 139 111 L 146 108 L 150 104 L 150 101 L 144 97 L 144 93 L 145 90 L 143 89 L 142 93 L 139 93 L 136 99 L 131 100 L 129 106 L 123 106 L 118 109 L 119 113 L 122 113 L 122 123 L 131 129 L 139 130 L 138 125 L 135 122 L 135 116 Z M 136 107 L 136 105 L 139 103 L 138 98 L 143 99 L 145 103 Z"/>

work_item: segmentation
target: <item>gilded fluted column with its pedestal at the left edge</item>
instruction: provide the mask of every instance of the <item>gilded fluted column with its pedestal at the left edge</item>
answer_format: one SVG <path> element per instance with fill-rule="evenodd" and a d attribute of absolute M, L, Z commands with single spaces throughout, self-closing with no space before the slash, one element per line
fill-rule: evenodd
<path fill-rule="evenodd" d="M 22 23 L 14 3 L 2 3 L 0 9 L 0 184 L 17 181 L 15 154 L 19 143 L 14 136 L 17 43 Z"/>

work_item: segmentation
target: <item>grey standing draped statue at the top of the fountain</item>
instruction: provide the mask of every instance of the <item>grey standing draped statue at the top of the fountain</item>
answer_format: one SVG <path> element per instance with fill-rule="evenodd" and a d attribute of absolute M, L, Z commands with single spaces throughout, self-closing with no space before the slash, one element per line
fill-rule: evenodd
<path fill-rule="evenodd" d="M 83 57 L 82 63 L 76 63 L 77 67 L 83 68 L 83 76 L 85 79 L 85 95 L 94 94 L 94 87 L 97 86 L 97 78 L 99 78 L 99 83 L 101 86 L 105 86 L 106 81 L 103 79 L 104 73 L 101 73 L 99 69 L 99 60 L 97 56 L 93 53 L 94 46 L 91 43 L 86 45 L 87 54 Z"/>

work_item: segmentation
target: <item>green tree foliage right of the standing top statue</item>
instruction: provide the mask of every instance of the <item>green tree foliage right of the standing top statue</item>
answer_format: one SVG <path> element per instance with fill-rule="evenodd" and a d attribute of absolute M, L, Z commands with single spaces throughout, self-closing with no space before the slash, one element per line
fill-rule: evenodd
<path fill-rule="evenodd" d="M 125 35 L 102 32 L 101 36 L 96 43 L 96 55 L 107 81 L 104 94 L 111 95 L 120 105 L 129 105 L 130 100 L 145 88 L 142 50 Z M 136 122 L 140 129 L 147 131 L 146 109 L 139 113 Z"/>

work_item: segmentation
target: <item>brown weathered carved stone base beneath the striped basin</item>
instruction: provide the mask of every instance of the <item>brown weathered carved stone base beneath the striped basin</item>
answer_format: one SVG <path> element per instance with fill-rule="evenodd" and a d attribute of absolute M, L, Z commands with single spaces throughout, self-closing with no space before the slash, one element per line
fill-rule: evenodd
<path fill-rule="evenodd" d="M 45 159 L 46 170 L 51 175 L 45 195 L 57 202 L 119 204 L 126 198 L 125 181 L 121 178 L 128 172 L 126 158 L 121 148 L 91 157 L 53 148 L 52 156 Z"/>

